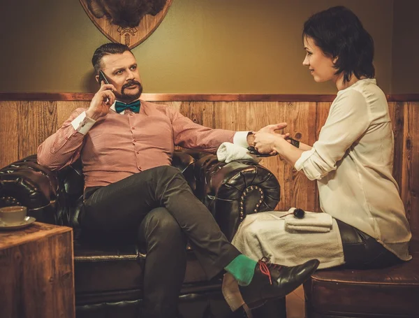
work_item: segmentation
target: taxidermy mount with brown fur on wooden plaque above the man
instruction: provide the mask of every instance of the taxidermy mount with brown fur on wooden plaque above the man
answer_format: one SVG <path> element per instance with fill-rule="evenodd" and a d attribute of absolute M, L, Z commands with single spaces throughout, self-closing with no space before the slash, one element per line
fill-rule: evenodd
<path fill-rule="evenodd" d="M 134 48 L 159 27 L 172 0 L 80 0 L 80 3 L 105 36 Z"/>

